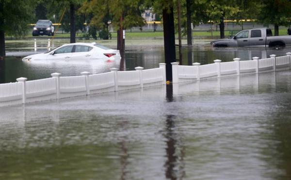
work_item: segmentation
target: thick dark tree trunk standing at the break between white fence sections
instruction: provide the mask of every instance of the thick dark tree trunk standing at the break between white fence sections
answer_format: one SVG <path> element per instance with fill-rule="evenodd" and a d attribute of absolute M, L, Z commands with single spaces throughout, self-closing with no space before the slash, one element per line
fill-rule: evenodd
<path fill-rule="evenodd" d="M 172 81 L 172 64 L 176 62 L 176 50 L 175 50 L 175 29 L 174 29 L 174 13 L 173 7 L 170 9 L 170 13 L 167 9 L 162 10 L 163 18 L 163 35 L 164 35 L 164 53 L 166 63 L 166 80 Z"/>

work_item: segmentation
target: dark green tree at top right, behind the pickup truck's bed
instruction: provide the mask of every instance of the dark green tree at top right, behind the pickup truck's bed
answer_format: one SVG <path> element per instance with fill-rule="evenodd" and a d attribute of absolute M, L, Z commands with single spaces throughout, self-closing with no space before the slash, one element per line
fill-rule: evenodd
<path fill-rule="evenodd" d="M 279 35 L 279 26 L 288 26 L 291 17 L 290 0 L 262 0 L 259 20 L 266 24 L 274 24 L 275 36 Z"/>

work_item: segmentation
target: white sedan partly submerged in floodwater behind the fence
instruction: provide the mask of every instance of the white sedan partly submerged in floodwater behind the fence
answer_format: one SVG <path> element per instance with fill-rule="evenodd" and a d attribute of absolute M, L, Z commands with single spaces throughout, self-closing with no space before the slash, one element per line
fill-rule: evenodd
<path fill-rule="evenodd" d="M 119 50 L 114 50 L 96 43 L 72 43 L 61 45 L 49 52 L 24 57 L 23 61 L 47 62 L 92 62 L 97 60 L 120 60 Z"/>

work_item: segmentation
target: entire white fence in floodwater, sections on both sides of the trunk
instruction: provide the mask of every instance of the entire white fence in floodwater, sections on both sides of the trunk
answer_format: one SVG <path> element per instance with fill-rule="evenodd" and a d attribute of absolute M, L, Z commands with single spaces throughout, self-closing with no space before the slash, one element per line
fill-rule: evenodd
<path fill-rule="evenodd" d="M 287 56 L 259 60 L 233 59 L 231 62 L 214 60 L 212 64 L 193 66 L 178 65 L 172 62 L 173 83 L 200 81 L 202 79 L 220 78 L 225 76 L 243 75 L 259 72 L 291 69 L 291 53 Z M 0 106 L 17 105 L 31 102 L 60 99 L 74 96 L 96 94 L 102 92 L 129 90 L 166 84 L 166 64 L 160 63 L 159 68 L 144 70 L 136 67 L 136 71 L 117 71 L 90 75 L 88 72 L 80 76 L 60 76 L 27 81 L 27 78 L 17 78 L 17 82 L 0 84 Z"/>

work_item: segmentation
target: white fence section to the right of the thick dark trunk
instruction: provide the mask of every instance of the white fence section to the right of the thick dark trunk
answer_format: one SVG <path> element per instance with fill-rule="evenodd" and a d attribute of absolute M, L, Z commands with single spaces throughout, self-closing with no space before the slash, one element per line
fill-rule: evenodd
<path fill-rule="evenodd" d="M 231 62 L 214 60 L 214 63 L 205 65 L 195 62 L 192 64 L 193 66 L 178 65 L 178 62 L 172 62 L 173 83 L 291 69 L 291 53 L 286 54 L 287 56 L 281 57 L 270 55 L 270 58 L 260 60 L 258 57 L 242 61 L 235 58 Z"/>

